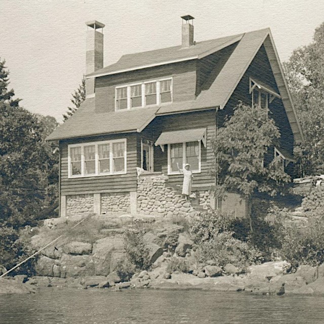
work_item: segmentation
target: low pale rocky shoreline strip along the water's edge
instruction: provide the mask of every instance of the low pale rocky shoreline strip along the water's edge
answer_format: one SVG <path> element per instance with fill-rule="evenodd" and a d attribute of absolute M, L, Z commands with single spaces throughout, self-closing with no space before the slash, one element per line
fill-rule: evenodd
<path fill-rule="evenodd" d="M 301 266 L 295 273 L 284 274 L 284 262 L 267 262 L 249 267 L 247 274 L 217 275 L 199 278 L 189 273 L 166 274 L 163 266 L 135 274 L 121 282 L 116 273 L 108 276 L 59 278 L 18 275 L 0 279 L 0 293 L 36 293 L 39 288 L 203 290 L 215 292 L 245 292 L 274 296 L 324 296 L 324 266 Z"/>

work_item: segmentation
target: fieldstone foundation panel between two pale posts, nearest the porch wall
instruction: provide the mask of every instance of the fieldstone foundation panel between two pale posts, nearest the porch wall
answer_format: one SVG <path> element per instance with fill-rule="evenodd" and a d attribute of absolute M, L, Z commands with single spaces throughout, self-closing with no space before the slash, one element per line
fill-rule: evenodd
<path fill-rule="evenodd" d="M 131 212 L 129 192 L 102 193 L 101 212 Z"/>

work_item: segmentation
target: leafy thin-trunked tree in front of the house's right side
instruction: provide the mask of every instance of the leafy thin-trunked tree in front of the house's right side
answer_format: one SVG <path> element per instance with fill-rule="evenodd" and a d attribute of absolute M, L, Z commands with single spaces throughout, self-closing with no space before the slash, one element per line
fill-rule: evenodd
<path fill-rule="evenodd" d="M 258 105 L 250 107 L 240 103 L 213 141 L 218 179 L 216 196 L 223 198 L 227 192 L 240 194 L 249 202 L 250 216 L 254 195 L 273 197 L 290 181 L 279 158 L 269 158 L 280 132 L 268 114 L 269 110 Z M 253 231 L 251 217 L 250 227 Z"/>

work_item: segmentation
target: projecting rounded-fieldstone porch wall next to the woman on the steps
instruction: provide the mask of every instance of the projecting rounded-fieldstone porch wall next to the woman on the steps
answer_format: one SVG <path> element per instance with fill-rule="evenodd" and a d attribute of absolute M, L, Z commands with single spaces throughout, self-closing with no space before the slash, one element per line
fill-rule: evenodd
<path fill-rule="evenodd" d="M 168 186 L 168 180 L 165 175 L 146 175 L 138 178 L 137 212 L 139 214 L 162 217 L 193 216 L 198 209 L 207 209 L 210 206 L 208 191 L 196 191 L 194 192 L 196 198 L 186 201 L 180 189 Z"/>

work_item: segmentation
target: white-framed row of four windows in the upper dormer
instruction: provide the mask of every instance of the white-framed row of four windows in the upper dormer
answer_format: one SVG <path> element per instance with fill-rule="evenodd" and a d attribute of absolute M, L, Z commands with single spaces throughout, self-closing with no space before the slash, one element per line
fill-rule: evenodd
<path fill-rule="evenodd" d="M 172 102 L 172 78 L 115 88 L 115 109 L 132 109 Z"/>

